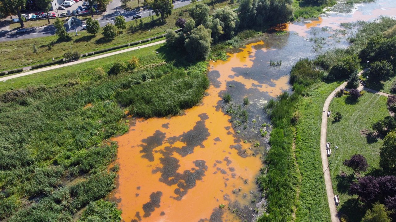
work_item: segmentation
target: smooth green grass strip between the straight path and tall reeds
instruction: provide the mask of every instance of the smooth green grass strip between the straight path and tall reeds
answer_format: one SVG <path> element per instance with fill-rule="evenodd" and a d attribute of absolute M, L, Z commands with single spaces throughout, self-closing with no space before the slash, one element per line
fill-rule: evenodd
<path fill-rule="evenodd" d="M 10 79 L 6 82 L 0 82 L 0 93 L 15 88 L 25 88 L 27 86 L 46 85 L 53 87 L 58 84 L 67 83 L 70 80 L 79 79 L 80 82 L 88 81 L 97 78 L 93 71 L 94 68 L 103 66 L 105 71 L 114 61 L 126 61 L 131 59 L 132 56 L 139 58 L 141 65 L 153 64 L 163 62 L 165 55 L 163 53 L 156 54 L 156 51 L 161 51 L 164 44 L 154 45 L 143 49 L 129 51 L 118 55 L 100 58 L 97 60 L 76 64 L 74 66 L 67 66 L 56 70 L 43 71 L 34 73 L 15 79 Z"/>

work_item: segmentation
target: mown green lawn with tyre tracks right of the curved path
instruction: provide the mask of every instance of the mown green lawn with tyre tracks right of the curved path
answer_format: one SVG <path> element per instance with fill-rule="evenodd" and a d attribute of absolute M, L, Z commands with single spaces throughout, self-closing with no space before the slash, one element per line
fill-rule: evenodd
<path fill-rule="evenodd" d="M 366 92 L 354 104 L 348 103 L 346 98 L 346 95 L 341 98 L 334 98 L 329 108 L 333 113 L 339 111 L 343 115 L 340 122 L 332 123 L 333 118 L 327 122 L 327 141 L 331 143 L 333 151 L 330 159 L 333 161 L 330 166 L 330 174 L 334 193 L 340 195 L 338 209 L 346 211 L 348 221 L 358 222 L 366 211 L 360 211 L 358 207 L 352 207 L 353 210 L 350 209 L 351 211 L 348 210 L 351 206 L 350 203 L 353 204 L 356 199 L 351 199 L 352 197 L 347 194 L 350 179 L 339 175 L 341 173 L 347 175 L 352 173 L 352 170 L 343 165 L 343 161 L 354 154 L 362 154 L 366 157 L 370 165 L 366 173 L 373 172 L 378 167 L 379 149 L 382 147 L 383 140 L 367 139 L 362 131 L 371 130 L 371 124 L 388 116 L 389 112 L 386 109 L 385 96 Z M 335 146 L 339 147 L 337 151 L 333 148 Z"/>

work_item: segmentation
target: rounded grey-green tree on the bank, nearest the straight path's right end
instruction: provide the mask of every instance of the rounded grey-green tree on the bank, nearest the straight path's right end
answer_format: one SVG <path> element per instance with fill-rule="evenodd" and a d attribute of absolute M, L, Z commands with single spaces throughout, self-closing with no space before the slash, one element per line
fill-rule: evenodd
<path fill-rule="evenodd" d="M 193 59 L 206 59 L 210 53 L 210 43 L 212 39 L 211 30 L 199 25 L 191 31 L 190 37 L 185 42 L 188 54 Z"/>

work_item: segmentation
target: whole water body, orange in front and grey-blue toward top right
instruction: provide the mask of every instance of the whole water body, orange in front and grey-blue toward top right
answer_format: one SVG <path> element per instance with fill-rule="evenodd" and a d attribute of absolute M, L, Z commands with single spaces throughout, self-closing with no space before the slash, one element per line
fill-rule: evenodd
<path fill-rule="evenodd" d="M 271 130 L 263 125 L 265 103 L 291 91 L 289 71 L 300 58 L 348 45 L 341 23 L 394 16 L 395 9 L 396 1 L 382 0 L 349 14 L 282 24 L 274 30 L 287 34 L 265 34 L 228 53 L 227 61 L 210 61 L 211 84 L 200 104 L 175 117 L 132 120 L 128 133 L 114 138 L 120 171 L 111 195 L 123 220 L 254 220 L 265 203 L 255 182 Z M 269 66 L 270 60 L 282 65 Z M 230 104 L 222 100 L 226 92 Z M 238 105 L 249 113 L 246 122 L 226 114 Z"/>

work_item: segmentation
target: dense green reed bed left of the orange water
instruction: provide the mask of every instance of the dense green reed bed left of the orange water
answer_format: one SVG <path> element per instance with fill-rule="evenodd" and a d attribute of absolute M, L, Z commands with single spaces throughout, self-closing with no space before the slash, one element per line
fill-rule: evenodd
<path fill-rule="evenodd" d="M 208 87 L 206 62 L 181 68 L 166 64 L 118 75 L 106 74 L 107 67 L 84 65 L 89 74 L 79 67 L 69 71 L 74 72 L 71 76 L 85 73 L 85 81 L 52 76 L 47 86 L 36 79 L 27 88 L 0 96 L 0 188 L 4 191 L 0 219 L 69 221 L 73 213 L 114 188 L 116 174 L 107 173 L 106 167 L 116 157 L 117 147 L 106 139 L 128 129 L 118 104 L 128 105 L 136 116 L 147 116 L 142 113 L 150 110 L 156 116 L 176 114 L 195 105 Z M 178 88 L 177 95 L 166 90 L 169 86 Z M 61 182 L 83 175 L 86 179 L 72 186 Z M 23 207 L 34 198 L 36 203 Z M 115 217 L 119 215 L 110 203 L 98 202 L 91 208 L 106 206 Z M 101 213 L 91 209 L 86 214 L 92 212 Z"/>

